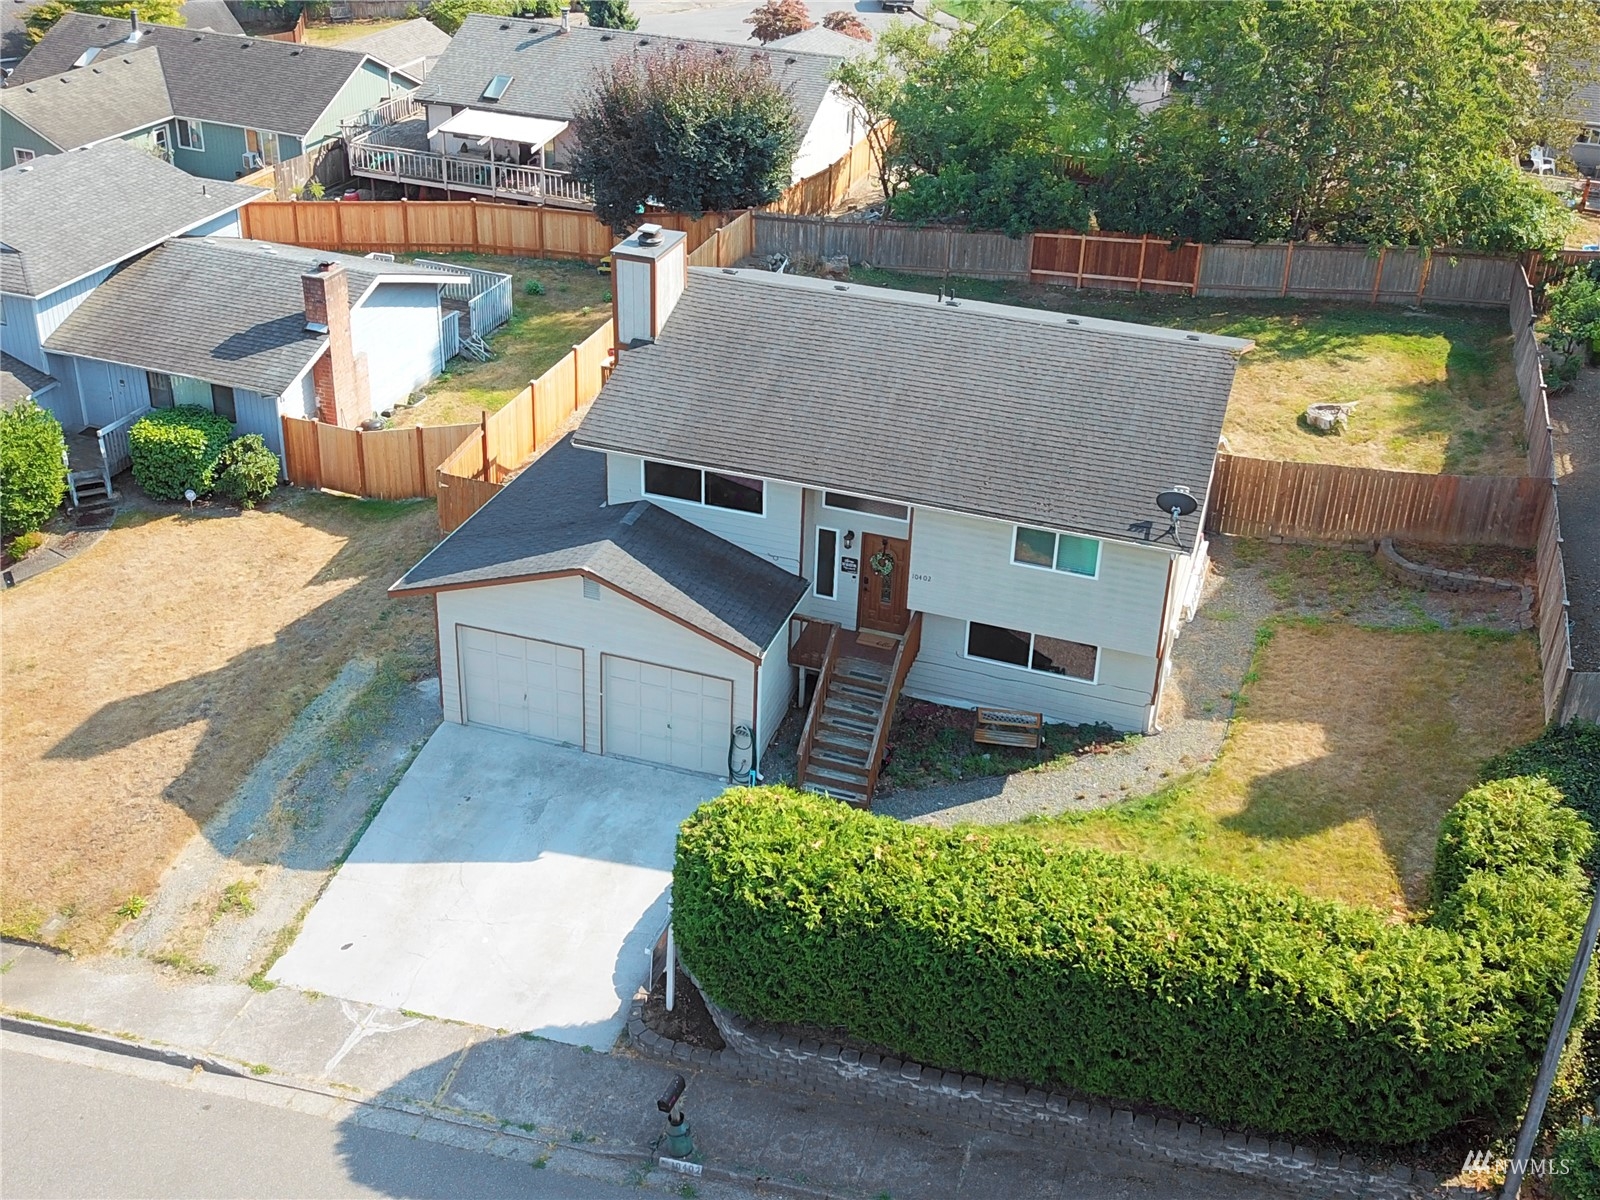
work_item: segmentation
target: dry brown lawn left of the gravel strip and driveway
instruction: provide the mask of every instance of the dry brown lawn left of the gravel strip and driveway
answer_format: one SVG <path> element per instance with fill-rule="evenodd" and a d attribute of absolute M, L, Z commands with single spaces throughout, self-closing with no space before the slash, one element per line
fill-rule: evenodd
<path fill-rule="evenodd" d="M 0 930 L 94 949 L 354 656 L 432 670 L 432 613 L 386 589 L 432 504 L 282 493 L 133 512 L 0 598 Z"/>

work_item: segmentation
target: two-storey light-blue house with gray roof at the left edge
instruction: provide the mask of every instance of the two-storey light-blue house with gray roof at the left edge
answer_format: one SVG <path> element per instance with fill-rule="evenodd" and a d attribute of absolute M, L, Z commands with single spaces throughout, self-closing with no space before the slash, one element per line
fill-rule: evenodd
<path fill-rule="evenodd" d="M 77 432 L 70 360 L 48 338 L 130 261 L 174 237 L 238 237 L 238 210 L 267 192 L 184 174 L 123 142 L 0 171 L 0 349 L 53 382 L 34 395 Z"/>

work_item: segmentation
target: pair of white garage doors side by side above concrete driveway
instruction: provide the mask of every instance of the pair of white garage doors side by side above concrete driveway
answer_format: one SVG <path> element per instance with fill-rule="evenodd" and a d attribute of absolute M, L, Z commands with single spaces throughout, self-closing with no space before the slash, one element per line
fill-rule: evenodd
<path fill-rule="evenodd" d="M 584 651 L 458 626 L 469 725 L 584 746 Z M 600 654 L 602 749 L 686 771 L 725 774 L 733 683 Z"/>

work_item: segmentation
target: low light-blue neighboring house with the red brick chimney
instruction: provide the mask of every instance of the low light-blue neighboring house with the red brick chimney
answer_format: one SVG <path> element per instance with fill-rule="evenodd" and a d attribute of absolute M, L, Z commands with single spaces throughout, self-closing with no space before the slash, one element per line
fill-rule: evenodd
<path fill-rule="evenodd" d="M 83 424 L 200 405 L 283 454 L 283 416 L 357 426 L 443 366 L 440 290 L 466 275 L 242 238 L 171 238 L 45 339 Z M 451 314 L 454 318 L 454 314 Z"/>

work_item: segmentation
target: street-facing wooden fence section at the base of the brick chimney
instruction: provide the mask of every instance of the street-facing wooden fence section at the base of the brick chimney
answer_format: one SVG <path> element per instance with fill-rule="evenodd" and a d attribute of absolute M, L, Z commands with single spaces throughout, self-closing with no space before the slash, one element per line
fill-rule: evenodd
<path fill-rule="evenodd" d="M 374 499 L 435 494 L 438 466 L 478 426 L 342 429 L 283 418 L 283 470 L 302 488 L 347 491 Z"/>

